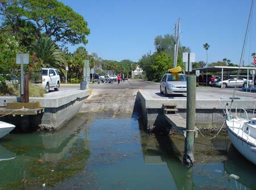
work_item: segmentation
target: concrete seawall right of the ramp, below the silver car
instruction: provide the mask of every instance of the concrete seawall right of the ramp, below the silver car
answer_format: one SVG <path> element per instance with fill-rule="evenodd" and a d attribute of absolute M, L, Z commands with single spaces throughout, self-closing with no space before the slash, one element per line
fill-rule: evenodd
<path fill-rule="evenodd" d="M 170 127 L 164 121 L 163 104 L 176 104 L 179 114 L 186 118 L 187 113 L 187 98 L 186 97 L 163 97 L 158 93 L 150 92 L 149 90 L 139 90 L 139 98 L 142 106 L 142 119 L 144 125 L 149 131 L 162 131 Z M 226 102 L 231 102 L 230 98 L 212 98 L 205 100 L 196 98 L 196 123 L 199 127 L 216 127 L 220 126 L 225 120 L 223 116 Z M 248 117 L 255 117 L 252 111 L 255 106 L 254 98 L 236 99 L 233 105 L 237 105 L 247 110 Z M 238 112 L 241 111 L 238 109 Z"/>

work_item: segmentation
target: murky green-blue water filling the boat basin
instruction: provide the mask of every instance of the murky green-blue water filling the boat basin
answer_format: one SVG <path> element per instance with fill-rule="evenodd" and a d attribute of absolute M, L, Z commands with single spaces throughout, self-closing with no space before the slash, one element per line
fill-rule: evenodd
<path fill-rule="evenodd" d="M 199 135 L 191 168 L 183 150 L 183 137 L 144 133 L 137 119 L 78 114 L 57 133 L 0 139 L 0 189 L 256 189 L 256 167 L 226 134 Z"/>

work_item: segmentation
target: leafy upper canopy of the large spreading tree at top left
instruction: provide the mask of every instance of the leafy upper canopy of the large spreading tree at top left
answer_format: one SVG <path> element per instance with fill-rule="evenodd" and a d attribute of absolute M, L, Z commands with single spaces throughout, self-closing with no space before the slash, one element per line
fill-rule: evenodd
<path fill-rule="evenodd" d="M 54 42 L 87 43 L 86 35 L 90 33 L 87 22 L 71 7 L 59 1 L 9 0 L 1 1 L 0 7 L 2 27 L 5 31 L 9 30 L 20 36 L 29 34 L 28 42 L 32 39 L 31 34 L 37 34 L 36 38 L 39 39 L 38 31 L 43 31 Z M 34 23 L 34 26 L 31 23 Z M 28 30 L 24 31 L 26 28 Z"/>

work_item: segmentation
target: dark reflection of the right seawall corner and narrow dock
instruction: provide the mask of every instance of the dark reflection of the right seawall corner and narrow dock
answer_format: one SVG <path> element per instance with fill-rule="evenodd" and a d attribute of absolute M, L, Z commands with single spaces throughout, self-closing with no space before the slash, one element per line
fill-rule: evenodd
<path fill-rule="evenodd" d="M 142 134 L 144 163 L 167 164 L 168 170 L 174 180 L 176 189 L 195 189 L 193 183 L 192 168 L 186 167 L 182 162 L 182 156 L 168 135 Z"/>

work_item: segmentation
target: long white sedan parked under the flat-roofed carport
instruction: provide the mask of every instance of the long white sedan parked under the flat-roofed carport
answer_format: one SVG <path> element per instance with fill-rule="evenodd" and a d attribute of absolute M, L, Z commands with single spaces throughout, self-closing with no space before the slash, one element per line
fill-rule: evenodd
<path fill-rule="evenodd" d="M 249 80 L 248 85 L 252 85 L 252 84 L 253 84 L 253 81 Z M 214 86 L 221 87 L 221 79 L 214 82 Z M 236 87 L 247 86 L 247 79 L 243 79 L 242 77 L 238 77 L 238 79 L 237 78 L 230 78 L 228 80 L 222 81 L 222 88 L 235 87 L 235 86 Z"/>

